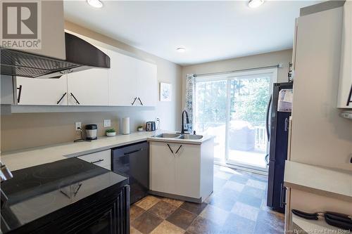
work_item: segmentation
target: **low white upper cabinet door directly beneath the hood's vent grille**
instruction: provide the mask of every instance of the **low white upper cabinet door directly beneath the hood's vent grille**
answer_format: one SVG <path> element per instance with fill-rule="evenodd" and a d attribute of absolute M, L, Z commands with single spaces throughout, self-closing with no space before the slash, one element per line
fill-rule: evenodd
<path fill-rule="evenodd" d="M 18 105 L 68 105 L 66 78 L 16 77 Z"/>

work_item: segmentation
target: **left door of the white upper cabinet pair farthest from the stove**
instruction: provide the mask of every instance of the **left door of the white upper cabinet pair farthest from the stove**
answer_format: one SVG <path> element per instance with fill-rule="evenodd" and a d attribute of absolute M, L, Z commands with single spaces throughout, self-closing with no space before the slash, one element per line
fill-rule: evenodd
<path fill-rule="evenodd" d="M 108 78 L 109 105 L 137 105 L 137 62 L 136 58 L 108 51 L 111 68 Z"/>

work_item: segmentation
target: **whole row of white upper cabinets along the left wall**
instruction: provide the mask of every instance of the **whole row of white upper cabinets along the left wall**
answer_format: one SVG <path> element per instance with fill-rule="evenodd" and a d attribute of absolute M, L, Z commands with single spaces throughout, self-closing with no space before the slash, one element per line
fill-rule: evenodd
<path fill-rule="evenodd" d="M 111 68 L 90 68 L 60 79 L 17 77 L 19 105 L 156 105 L 156 65 L 110 50 L 99 41 L 82 39 L 106 53 Z"/>

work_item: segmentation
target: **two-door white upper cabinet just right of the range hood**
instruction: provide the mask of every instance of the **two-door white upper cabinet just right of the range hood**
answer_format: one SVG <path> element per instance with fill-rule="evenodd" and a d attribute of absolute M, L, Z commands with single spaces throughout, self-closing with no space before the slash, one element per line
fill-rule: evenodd
<path fill-rule="evenodd" d="M 111 58 L 109 105 L 156 105 L 156 65 L 115 51 L 108 51 L 108 56 Z"/>

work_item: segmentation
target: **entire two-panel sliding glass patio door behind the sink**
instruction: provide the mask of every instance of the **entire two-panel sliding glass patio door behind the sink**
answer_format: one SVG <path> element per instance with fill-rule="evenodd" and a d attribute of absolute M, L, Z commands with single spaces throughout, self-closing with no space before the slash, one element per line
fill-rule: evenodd
<path fill-rule="evenodd" d="M 195 129 L 215 136 L 215 161 L 266 170 L 265 117 L 277 70 L 197 77 Z"/>

